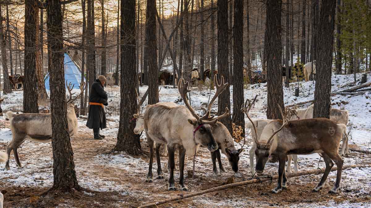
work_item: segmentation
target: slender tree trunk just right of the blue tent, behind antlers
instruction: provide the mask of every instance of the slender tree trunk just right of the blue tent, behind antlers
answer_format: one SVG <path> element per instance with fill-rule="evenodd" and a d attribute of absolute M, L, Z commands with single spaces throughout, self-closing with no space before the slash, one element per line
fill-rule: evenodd
<path fill-rule="evenodd" d="M 82 45 L 82 64 L 81 64 L 81 82 L 84 81 L 85 77 L 85 36 L 86 36 L 86 17 L 85 17 L 85 0 L 81 0 L 81 7 L 82 7 L 82 40 L 81 40 L 81 45 Z M 86 84 L 85 84 L 86 88 Z M 89 89 L 89 88 L 87 88 Z M 88 91 L 88 90 L 86 90 Z M 85 94 L 87 94 L 85 91 Z M 81 96 L 80 98 L 80 114 L 85 115 L 86 113 L 86 101 L 84 100 L 85 96 Z M 85 102 L 84 102 L 85 101 Z"/>

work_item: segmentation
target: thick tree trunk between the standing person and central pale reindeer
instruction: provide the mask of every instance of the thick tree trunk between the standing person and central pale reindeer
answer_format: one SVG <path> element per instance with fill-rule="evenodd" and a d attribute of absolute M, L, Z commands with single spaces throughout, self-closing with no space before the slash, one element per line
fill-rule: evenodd
<path fill-rule="evenodd" d="M 155 3 L 153 0 L 147 1 L 148 4 Z M 153 4 L 156 8 L 156 4 Z M 147 7 L 148 9 L 148 7 Z M 153 9 L 153 8 L 151 8 Z M 153 11 L 152 11 L 153 12 Z M 154 17 L 154 16 L 153 16 Z M 148 19 L 151 25 L 154 19 Z M 156 33 L 152 30 L 151 33 Z M 150 39 L 150 44 L 152 39 Z M 138 85 L 137 73 L 135 72 L 135 0 L 121 1 L 121 103 L 120 103 L 120 124 L 117 134 L 117 143 L 113 151 L 125 151 L 130 155 L 139 155 L 142 148 L 139 135 L 133 134 L 135 122 L 131 118 L 137 112 L 137 99 L 135 90 Z M 151 46 L 150 46 L 151 47 Z M 151 48 L 152 49 L 152 48 Z M 152 57 L 152 56 L 151 56 Z M 150 58 L 151 58 L 150 57 Z M 156 59 L 155 59 L 156 60 Z M 150 74 L 151 74 L 150 62 Z M 157 65 L 155 65 L 157 68 Z M 157 71 L 156 71 L 157 72 Z M 156 79 L 157 80 L 157 79 Z M 150 80 L 151 83 L 151 80 Z M 156 89 L 157 91 L 157 89 Z"/>

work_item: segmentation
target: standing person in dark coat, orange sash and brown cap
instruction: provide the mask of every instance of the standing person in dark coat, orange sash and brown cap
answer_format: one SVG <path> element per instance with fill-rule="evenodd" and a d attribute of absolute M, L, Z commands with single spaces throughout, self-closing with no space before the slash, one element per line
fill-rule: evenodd
<path fill-rule="evenodd" d="M 86 126 L 93 129 L 94 139 L 102 140 L 104 135 L 99 134 L 100 129 L 107 128 L 104 105 L 108 105 L 107 93 L 104 91 L 106 77 L 99 76 L 92 84 L 89 94 L 89 117 Z"/>

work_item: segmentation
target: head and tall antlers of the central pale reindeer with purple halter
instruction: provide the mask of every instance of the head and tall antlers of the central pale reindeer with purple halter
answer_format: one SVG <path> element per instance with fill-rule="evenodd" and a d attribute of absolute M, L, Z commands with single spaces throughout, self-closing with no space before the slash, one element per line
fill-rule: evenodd
<path fill-rule="evenodd" d="M 224 83 L 224 77 L 221 77 L 221 83 L 218 83 L 217 76 L 214 77 L 214 84 L 216 86 L 216 93 L 211 99 L 209 108 L 207 113 L 204 114 L 202 117 L 199 117 L 196 112 L 194 112 L 191 105 L 188 103 L 187 93 L 190 92 L 188 88 L 188 82 L 184 82 L 184 79 L 181 78 L 178 82 L 178 90 L 183 98 L 185 106 L 188 108 L 190 113 L 193 115 L 194 118 L 188 119 L 188 123 L 193 125 L 193 135 L 196 144 L 201 144 L 207 147 L 211 152 L 218 149 L 218 144 L 215 142 L 214 135 L 213 135 L 213 128 L 212 126 L 216 125 L 218 119 L 229 116 L 229 109 L 226 108 L 226 112 L 219 117 L 210 116 L 210 108 L 213 105 L 213 102 L 218 97 L 218 95 L 223 92 L 223 90 L 227 87 L 228 83 Z"/>

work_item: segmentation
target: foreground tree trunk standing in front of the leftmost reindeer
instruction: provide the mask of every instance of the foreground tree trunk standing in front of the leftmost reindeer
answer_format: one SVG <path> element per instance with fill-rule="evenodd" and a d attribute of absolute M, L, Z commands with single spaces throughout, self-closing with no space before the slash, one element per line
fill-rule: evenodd
<path fill-rule="evenodd" d="M 53 190 L 79 190 L 73 151 L 68 134 L 62 15 L 59 0 L 47 4 L 47 29 L 50 43 L 50 110 L 52 114 Z"/>

